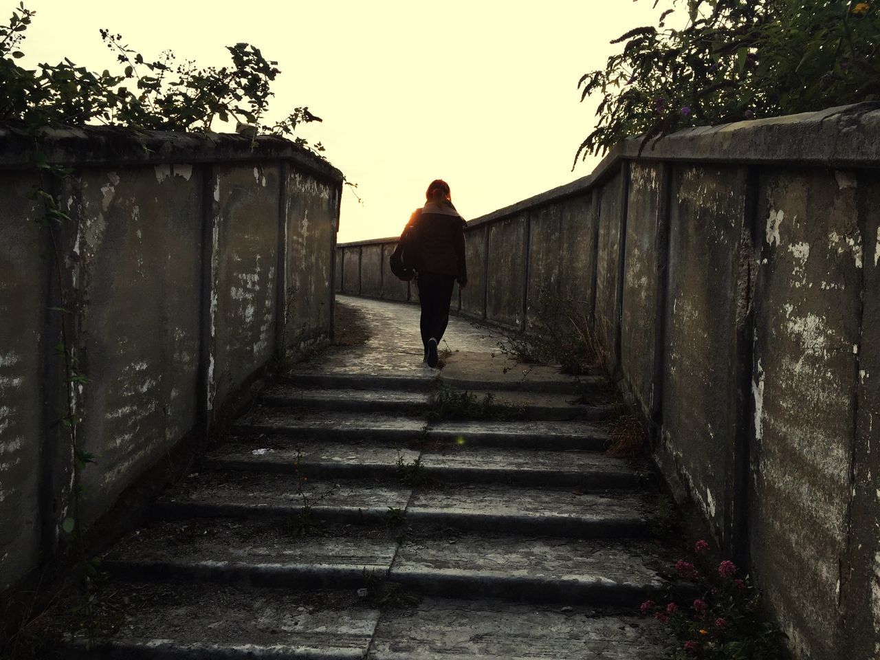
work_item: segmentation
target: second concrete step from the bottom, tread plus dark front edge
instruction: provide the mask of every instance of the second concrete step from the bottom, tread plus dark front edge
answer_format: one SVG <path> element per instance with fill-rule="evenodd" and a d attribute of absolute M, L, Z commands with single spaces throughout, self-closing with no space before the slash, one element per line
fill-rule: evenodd
<path fill-rule="evenodd" d="M 327 527 L 297 536 L 297 519 L 160 522 L 123 539 L 104 563 L 126 579 L 357 589 L 385 579 L 425 594 L 637 606 L 666 583 L 656 549 L 634 541 L 455 532 L 395 525 Z M 652 567 L 652 564 L 654 566 Z"/>

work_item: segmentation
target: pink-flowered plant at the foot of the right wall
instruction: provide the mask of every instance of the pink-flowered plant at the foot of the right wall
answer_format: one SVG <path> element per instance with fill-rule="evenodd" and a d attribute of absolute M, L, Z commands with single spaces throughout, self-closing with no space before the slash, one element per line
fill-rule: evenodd
<path fill-rule="evenodd" d="M 784 660 L 787 635 L 763 616 L 759 591 L 749 576 L 737 577 L 732 561 L 715 563 L 707 541 L 693 544 L 690 561 L 679 560 L 679 579 L 693 583 L 699 598 L 642 603 L 641 611 L 671 628 L 676 660 Z"/>

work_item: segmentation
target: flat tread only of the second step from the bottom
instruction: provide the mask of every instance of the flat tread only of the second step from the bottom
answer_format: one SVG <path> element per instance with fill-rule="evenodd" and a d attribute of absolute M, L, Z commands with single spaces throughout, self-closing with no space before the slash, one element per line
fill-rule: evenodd
<path fill-rule="evenodd" d="M 407 535 L 389 529 L 328 528 L 298 537 L 290 524 L 237 520 L 160 522 L 129 535 L 105 555 L 126 566 L 386 573 L 393 579 L 429 576 L 479 583 L 564 583 L 571 588 L 658 590 L 668 561 L 647 542 L 474 534 L 444 529 Z"/>

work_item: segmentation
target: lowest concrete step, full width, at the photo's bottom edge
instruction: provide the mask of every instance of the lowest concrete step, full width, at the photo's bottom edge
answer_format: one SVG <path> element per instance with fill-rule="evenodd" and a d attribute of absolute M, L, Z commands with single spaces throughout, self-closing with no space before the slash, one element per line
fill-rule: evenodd
<path fill-rule="evenodd" d="M 416 600 L 380 609 L 372 594 L 216 583 L 112 582 L 110 605 L 136 611 L 112 642 L 65 657 L 105 660 L 661 660 L 664 629 L 622 608 L 491 598 Z M 229 612 L 237 612 L 231 619 Z M 241 625 L 246 621 L 246 625 Z"/>

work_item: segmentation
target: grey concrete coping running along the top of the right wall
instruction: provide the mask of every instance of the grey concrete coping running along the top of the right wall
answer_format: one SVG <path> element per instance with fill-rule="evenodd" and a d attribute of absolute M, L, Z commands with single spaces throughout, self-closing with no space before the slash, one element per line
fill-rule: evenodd
<path fill-rule="evenodd" d="M 880 102 L 721 126 L 684 128 L 649 144 L 640 156 L 641 146 L 641 136 L 627 137 L 614 145 L 587 176 L 474 218 L 467 227 L 491 223 L 526 209 L 587 193 L 611 177 L 623 160 L 880 168 Z M 364 246 L 388 240 L 373 238 L 340 243 L 337 247 Z"/>

